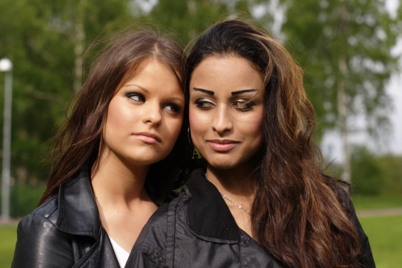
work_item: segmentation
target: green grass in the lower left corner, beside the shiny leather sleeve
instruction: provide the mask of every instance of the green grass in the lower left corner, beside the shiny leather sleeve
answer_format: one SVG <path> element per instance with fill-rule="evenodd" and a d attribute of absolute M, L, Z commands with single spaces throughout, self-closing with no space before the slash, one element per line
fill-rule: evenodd
<path fill-rule="evenodd" d="M 9 268 L 17 241 L 17 226 L 0 226 L 0 268 Z"/>

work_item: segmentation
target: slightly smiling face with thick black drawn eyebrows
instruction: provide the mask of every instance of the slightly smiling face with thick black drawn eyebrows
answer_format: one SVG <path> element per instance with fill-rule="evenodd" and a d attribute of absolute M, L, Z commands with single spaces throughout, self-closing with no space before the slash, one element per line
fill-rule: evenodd
<path fill-rule="evenodd" d="M 189 119 L 194 146 L 215 168 L 248 163 L 263 143 L 260 73 L 238 56 L 211 56 L 193 71 Z"/>

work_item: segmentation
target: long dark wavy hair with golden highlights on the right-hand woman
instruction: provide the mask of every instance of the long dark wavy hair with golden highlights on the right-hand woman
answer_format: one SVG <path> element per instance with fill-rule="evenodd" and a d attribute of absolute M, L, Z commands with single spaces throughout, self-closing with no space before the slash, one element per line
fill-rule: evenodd
<path fill-rule="evenodd" d="M 186 98 L 200 62 L 227 55 L 250 61 L 265 85 L 265 139 L 251 210 L 254 237 L 288 267 L 359 267 L 349 196 L 339 181 L 323 174 L 303 71 L 282 45 L 241 20 L 212 26 L 189 53 Z"/>

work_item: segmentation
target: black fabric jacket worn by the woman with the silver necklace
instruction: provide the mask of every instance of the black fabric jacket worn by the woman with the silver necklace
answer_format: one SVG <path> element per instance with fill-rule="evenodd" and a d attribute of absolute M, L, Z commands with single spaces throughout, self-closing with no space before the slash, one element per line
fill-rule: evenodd
<path fill-rule="evenodd" d="M 126 267 L 284 267 L 240 229 L 216 187 L 196 169 L 170 204 L 159 207 L 144 226 Z M 351 205 L 351 203 L 350 203 Z M 367 267 L 375 267 L 367 236 L 357 220 Z"/>

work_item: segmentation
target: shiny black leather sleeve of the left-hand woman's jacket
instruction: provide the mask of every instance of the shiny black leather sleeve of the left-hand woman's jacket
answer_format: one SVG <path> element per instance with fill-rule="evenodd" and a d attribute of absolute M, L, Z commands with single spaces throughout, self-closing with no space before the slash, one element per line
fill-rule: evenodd
<path fill-rule="evenodd" d="M 17 228 L 12 268 L 72 267 L 73 253 L 67 234 L 41 215 L 28 215 Z"/>

